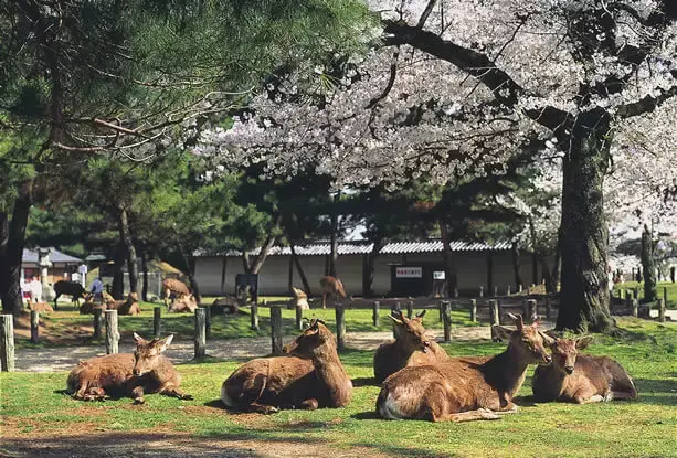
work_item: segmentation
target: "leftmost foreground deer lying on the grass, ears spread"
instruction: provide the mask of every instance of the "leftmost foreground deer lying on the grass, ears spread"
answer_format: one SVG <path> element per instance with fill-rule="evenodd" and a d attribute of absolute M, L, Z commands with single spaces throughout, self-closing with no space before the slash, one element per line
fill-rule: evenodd
<path fill-rule="evenodd" d="M 103 401 L 130 396 L 144 404 L 145 393 L 192 400 L 181 388 L 181 376 L 163 353 L 173 335 L 147 341 L 134 333 L 136 351 L 81 361 L 68 374 L 67 393 L 76 400 Z"/>

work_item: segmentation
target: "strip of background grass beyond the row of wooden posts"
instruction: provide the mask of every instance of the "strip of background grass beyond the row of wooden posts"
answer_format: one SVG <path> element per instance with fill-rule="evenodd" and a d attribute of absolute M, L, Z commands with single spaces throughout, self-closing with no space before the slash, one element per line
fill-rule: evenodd
<path fill-rule="evenodd" d="M 141 315 L 136 317 L 119 316 L 118 327 L 123 334 L 138 332 L 141 335 L 151 335 L 152 333 L 152 309 L 157 303 L 140 302 Z M 244 310 L 248 313 L 248 308 Z M 415 310 L 416 312 L 419 310 Z M 352 332 L 369 332 L 369 331 L 387 331 L 391 329 L 390 320 L 387 315 L 390 309 L 381 308 L 379 326 L 374 327 L 372 321 L 372 311 L 367 309 L 347 309 L 346 310 L 346 328 Z M 282 311 L 283 316 L 283 332 L 285 334 L 296 333 L 296 311 Z M 438 321 L 438 311 L 429 310 L 424 323 L 430 329 L 442 329 L 442 323 Z M 250 329 L 250 316 L 241 313 L 236 317 L 232 316 L 214 316 L 212 317 L 212 339 L 232 339 L 242 337 L 269 335 L 269 317 L 271 310 L 266 307 L 258 308 L 258 331 Z M 327 326 L 336 329 L 336 312 L 334 309 L 310 309 L 304 310 L 304 318 L 320 318 L 325 320 Z M 41 320 L 46 328 L 42 332 L 47 339 L 45 342 L 38 345 L 32 344 L 28 337 L 19 337 L 15 340 L 17 347 L 44 347 L 54 344 L 87 344 L 101 343 L 91 339 L 93 334 L 93 316 L 80 315 L 71 306 L 62 306 L 59 311 L 50 315 L 41 316 Z M 470 322 L 469 312 L 467 310 L 452 311 L 452 322 L 454 326 L 473 326 Z M 194 335 L 194 317 L 190 313 L 168 313 L 162 307 L 162 334 L 173 333 L 177 338 L 192 338 Z"/>

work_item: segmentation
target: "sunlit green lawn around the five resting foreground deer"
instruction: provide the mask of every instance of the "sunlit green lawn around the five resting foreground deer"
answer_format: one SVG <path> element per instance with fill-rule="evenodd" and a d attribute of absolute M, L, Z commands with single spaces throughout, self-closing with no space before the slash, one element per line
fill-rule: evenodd
<path fill-rule="evenodd" d="M 188 434 L 197 441 L 294 441 L 324 447 L 324 456 L 677 457 L 677 324 L 618 321 L 627 330 L 625 337 L 601 337 L 589 351 L 613 355 L 628 370 L 639 391 L 636 402 L 535 405 L 528 398 L 531 368 L 520 392 L 525 397 L 517 400 L 522 406 L 517 415 L 465 424 L 387 422 L 373 414 L 379 392 L 369 380 L 373 352 L 348 351 L 341 359 L 356 388 L 347 408 L 229 414 L 215 401 L 236 364 L 213 362 L 178 366 L 194 401 L 148 395 L 145 406 L 131 406 L 129 398 L 73 401 L 57 393 L 65 386 L 66 373 L 3 373 L 0 426 L 7 437 L 27 441 L 65 433 L 89 433 L 103 440 L 115 432 L 163 432 Z M 473 342 L 445 348 L 452 354 L 470 355 L 491 354 L 504 345 Z"/>

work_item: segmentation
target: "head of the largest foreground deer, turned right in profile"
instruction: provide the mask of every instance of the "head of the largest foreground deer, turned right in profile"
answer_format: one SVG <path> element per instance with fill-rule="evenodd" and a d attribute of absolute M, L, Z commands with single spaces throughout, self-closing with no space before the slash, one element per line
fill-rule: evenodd
<path fill-rule="evenodd" d="M 503 326 L 494 326 L 496 335 L 507 340 L 508 348 L 517 350 L 525 361 L 529 363 L 548 364 L 552 361 L 546 347 L 552 344 L 554 339 L 538 330 L 540 319 L 531 317 L 531 324 L 525 324 L 521 315 L 508 313 L 516 329 L 511 330 Z"/>

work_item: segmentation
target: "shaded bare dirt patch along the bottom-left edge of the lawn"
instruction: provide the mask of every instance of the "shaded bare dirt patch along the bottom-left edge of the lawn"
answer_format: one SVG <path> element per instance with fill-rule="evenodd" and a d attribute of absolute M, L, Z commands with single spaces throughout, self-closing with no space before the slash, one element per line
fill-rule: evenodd
<path fill-rule="evenodd" d="M 194 437 L 188 434 L 154 430 L 134 433 L 22 434 L 4 436 L 0 457 L 374 457 L 388 455 L 366 447 L 341 449 L 325 441 L 306 439 L 250 440 L 236 435 Z"/>

